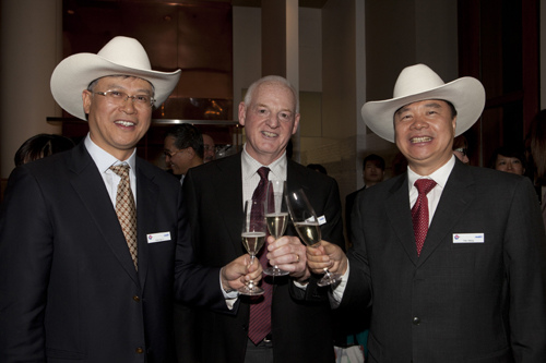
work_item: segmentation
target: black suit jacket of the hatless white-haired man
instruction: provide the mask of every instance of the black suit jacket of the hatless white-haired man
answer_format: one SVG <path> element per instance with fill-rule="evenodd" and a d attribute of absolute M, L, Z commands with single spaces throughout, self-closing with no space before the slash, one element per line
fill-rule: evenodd
<path fill-rule="evenodd" d="M 343 223 L 337 183 L 332 178 L 288 161 L 289 190 L 302 187 L 319 216 L 324 215 L 322 238 L 343 244 Z M 189 210 L 193 253 L 198 263 L 214 268 L 214 286 L 206 278 L 192 278 L 190 304 L 210 301 L 222 294 L 219 268 L 246 253 L 240 238 L 242 225 L 241 155 L 223 158 L 192 168 L 183 182 Z M 296 235 L 293 228 L 288 234 Z M 178 253 L 177 253 L 178 255 Z M 182 258 L 182 257 L 180 257 Z M 192 273 L 192 275 L 199 273 Z M 330 307 L 325 292 L 313 279 L 304 295 L 287 277 L 275 278 L 272 303 L 272 334 L 275 362 L 333 362 Z M 212 291 L 211 291 L 212 290 Z M 199 294 L 195 294 L 195 292 Z M 188 327 L 188 336 L 198 335 L 200 362 L 242 362 L 247 346 L 249 304 L 240 297 L 234 311 L 222 305 L 212 310 L 194 310 L 197 325 Z"/>

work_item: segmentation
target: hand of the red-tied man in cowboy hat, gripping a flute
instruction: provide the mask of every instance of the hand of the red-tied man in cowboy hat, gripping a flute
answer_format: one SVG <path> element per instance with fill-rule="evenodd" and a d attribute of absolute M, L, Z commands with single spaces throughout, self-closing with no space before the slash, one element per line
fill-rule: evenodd
<path fill-rule="evenodd" d="M 328 268 L 330 273 L 343 275 L 347 270 L 347 256 L 339 245 L 320 241 L 319 247 L 307 247 L 307 264 L 314 274 L 324 274 Z"/>

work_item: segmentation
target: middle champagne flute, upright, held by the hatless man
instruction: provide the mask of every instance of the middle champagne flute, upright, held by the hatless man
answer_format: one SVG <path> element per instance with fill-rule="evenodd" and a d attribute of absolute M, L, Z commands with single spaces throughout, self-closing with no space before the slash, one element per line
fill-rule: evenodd
<path fill-rule="evenodd" d="M 286 182 L 284 180 L 270 180 L 268 183 L 268 194 L 265 201 L 265 221 L 270 234 L 275 240 L 283 237 L 286 226 L 288 225 L 288 210 L 284 198 Z M 284 276 L 288 271 L 282 270 L 278 266 L 268 267 L 263 270 L 265 275 Z"/>

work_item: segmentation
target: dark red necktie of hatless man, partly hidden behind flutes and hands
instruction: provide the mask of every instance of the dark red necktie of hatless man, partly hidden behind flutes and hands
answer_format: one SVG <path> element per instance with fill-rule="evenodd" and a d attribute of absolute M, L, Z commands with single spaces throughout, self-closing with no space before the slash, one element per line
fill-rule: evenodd
<path fill-rule="evenodd" d="M 265 202 L 269 172 L 270 169 L 265 167 L 258 169 L 260 183 L 258 183 L 258 186 L 252 194 L 252 199 Z M 264 210 L 251 211 L 252 215 L 254 215 L 254 213 L 263 218 Z M 265 246 L 258 253 L 263 268 L 268 266 L 268 257 L 265 257 L 266 254 Z M 250 320 L 248 324 L 248 337 L 257 346 L 271 331 L 271 299 L 273 297 L 273 287 L 270 283 L 262 282 L 262 289 L 264 290 L 264 293 L 261 297 L 253 298 L 251 300 Z"/>

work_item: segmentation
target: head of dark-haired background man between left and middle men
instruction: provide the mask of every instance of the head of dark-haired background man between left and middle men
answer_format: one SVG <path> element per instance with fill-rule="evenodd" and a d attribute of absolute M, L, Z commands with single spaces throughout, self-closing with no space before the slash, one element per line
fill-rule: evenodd
<path fill-rule="evenodd" d="M 180 177 L 180 184 L 190 168 L 203 164 L 203 136 L 192 124 L 182 123 L 167 130 L 164 147 L 165 164 Z"/>

